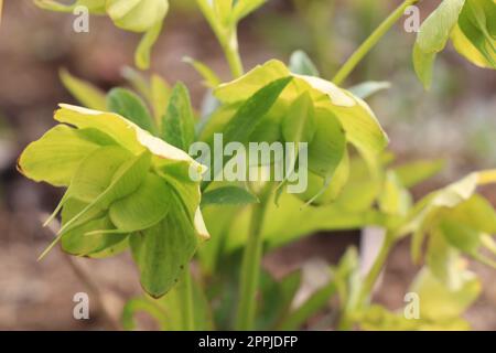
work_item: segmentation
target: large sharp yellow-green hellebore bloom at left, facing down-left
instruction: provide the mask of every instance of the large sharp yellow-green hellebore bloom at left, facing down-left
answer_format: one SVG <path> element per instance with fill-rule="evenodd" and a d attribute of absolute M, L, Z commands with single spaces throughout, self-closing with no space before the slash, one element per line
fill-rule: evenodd
<path fill-rule="evenodd" d="M 54 118 L 61 124 L 28 146 L 18 168 L 67 188 L 52 216 L 62 210 L 56 240 L 88 257 L 130 245 L 143 288 L 164 295 L 208 238 L 191 178 L 205 167 L 117 114 L 61 105 Z"/>

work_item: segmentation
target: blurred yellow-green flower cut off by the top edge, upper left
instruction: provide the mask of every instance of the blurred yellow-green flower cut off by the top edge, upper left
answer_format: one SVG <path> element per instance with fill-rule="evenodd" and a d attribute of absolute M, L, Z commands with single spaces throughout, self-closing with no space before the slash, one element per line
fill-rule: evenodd
<path fill-rule="evenodd" d="M 76 0 L 73 4 L 34 0 L 34 3 L 57 12 L 73 12 L 77 7 L 86 7 L 91 14 L 107 14 L 122 30 L 144 33 L 134 55 L 138 67 L 142 69 L 150 66 L 151 47 L 159 38 L 169 11 L 168 0 Z"/>

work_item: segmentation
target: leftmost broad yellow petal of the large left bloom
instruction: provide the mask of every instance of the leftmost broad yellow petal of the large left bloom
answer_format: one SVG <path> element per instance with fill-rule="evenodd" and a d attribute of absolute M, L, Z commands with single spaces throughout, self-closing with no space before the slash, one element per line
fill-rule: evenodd
<path fill-rule="evenodd" d="M 68 186 L 82 160 L 101 146 L 93 133 L 58 125 L 25 148 L 18 170 L 36 182 Z"/>

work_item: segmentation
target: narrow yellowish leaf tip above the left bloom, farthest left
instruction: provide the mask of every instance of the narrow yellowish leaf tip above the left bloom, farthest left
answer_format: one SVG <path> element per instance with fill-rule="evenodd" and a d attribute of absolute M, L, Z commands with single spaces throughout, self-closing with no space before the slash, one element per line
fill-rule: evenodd
<path fill-rule="evenodd" d="M 105 93 L 88 82 L 79 79 L 65 69 L 58 72 L 64 87 L 79 100 L 85 107 L 97 110 L 105 110 Z"/>

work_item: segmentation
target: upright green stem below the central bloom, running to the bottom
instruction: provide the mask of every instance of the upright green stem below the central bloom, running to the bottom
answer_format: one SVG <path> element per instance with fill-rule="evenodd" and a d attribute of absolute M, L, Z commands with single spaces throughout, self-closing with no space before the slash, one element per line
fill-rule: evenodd
<path fill-rule="evenodd" d="M 260 203 L 252 206 L 248 243 L 242 254 L 241 274 L 239 276 L 239 304 L 236 317 L 237 330 L 252 330 L 256 313 L 257 288 L 260 277 L 260 264 L 262 258 L 261 229 L 267 205 L 272 191 L 267 185 L 260 195 Z"/>

